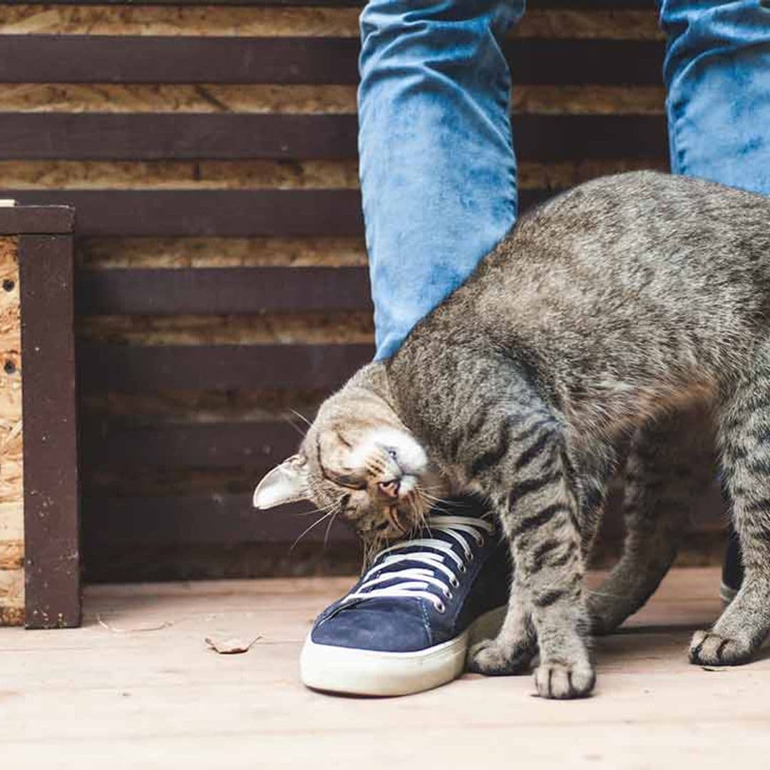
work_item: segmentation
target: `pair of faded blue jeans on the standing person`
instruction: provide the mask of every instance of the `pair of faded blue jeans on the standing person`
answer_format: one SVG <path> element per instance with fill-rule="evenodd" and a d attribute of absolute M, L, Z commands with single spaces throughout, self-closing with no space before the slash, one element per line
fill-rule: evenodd
<path fill-rule="evenodd" d="M 662 0 L 660 12 L 671 170 L 770 194 L 768 0 Z M 369 0 L 363 10 L 360 173 L 377 358 L 516 219 L 500 41 L 523 13 L 524 0 Z"/>

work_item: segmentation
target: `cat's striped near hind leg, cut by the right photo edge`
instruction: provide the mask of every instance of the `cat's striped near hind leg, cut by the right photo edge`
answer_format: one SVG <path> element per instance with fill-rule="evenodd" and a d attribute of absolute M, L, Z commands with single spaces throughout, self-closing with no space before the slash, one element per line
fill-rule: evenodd
<path fill-rule="evenodd" d="M 690 661 L 711 666 L 747 662 L 770 631 L 770 344 L 722 400 L 718 423 L 745 576 L 714 627 L 692 638 Z"/>

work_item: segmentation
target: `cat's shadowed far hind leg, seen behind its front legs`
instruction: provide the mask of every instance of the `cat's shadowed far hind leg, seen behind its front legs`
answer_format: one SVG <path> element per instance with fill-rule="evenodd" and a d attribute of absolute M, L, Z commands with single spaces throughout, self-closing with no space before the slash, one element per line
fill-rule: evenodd
<path fill-rule="evenodd" d="M 618 564 L 588 595 L 594 634 L 608 634 L 658 588 L 676 556 L 681 524 L 713 479 L 714 432 L 702 404 L 651 420 L 631 440 L 624 472 L 626 536 Z"/>

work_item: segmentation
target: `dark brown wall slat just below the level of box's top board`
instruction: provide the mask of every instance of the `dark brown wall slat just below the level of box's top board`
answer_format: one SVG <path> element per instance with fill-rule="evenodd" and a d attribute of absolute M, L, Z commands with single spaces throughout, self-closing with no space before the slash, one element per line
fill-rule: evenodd
<path fill-rule="evenodd" d="M 82 269 L 76 286 L 80 316 L 251 315 L 371 307 L 367 269 L 360 267 Z"/>

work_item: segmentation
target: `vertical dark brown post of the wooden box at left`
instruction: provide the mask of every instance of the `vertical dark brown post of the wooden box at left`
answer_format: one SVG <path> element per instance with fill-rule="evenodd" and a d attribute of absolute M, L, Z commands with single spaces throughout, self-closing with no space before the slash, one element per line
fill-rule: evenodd
<path fill-rule="evenodd" d="M 71 236 L 19 239 L 27 628 L 80 624 L 72 270 Z"/>

